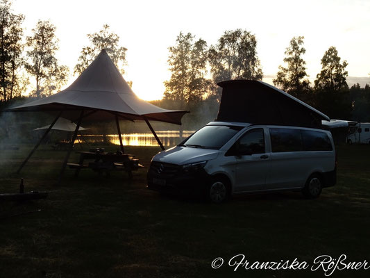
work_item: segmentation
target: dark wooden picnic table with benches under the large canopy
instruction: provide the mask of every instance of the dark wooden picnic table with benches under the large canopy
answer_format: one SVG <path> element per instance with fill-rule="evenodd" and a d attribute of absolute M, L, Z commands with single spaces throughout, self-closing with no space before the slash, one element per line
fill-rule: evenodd
<path fill-rule="evenodd" d="M 78 177 L 81 169 L 90 168 L 94 172 L 98 172 L 99 175 L 105 172 L 107 176 L 110 176 L 111 171 L 124 171 L 131 179 L 133 177 L 132 171 L 143 167 L 133 154 L 107 153 L 99 148 L 95 151 L 90 149 L 90 152 L 77 152 L 77 154 L 80 154 L 78 163 L 67 163 L 70 168 L 76 170 L 75 177 Z M 85 163 L 85 161 L 90 162 Z"/>

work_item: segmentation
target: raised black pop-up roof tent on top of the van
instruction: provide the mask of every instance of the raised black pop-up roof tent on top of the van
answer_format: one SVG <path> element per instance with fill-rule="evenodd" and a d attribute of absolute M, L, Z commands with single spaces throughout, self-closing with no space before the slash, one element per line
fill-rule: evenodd
<path fill-rule="evenodd" d="M 222 88 L 217 121 L 321 129 L 328 116 L 277 88 L 253 80 L 218 83 Z"/>

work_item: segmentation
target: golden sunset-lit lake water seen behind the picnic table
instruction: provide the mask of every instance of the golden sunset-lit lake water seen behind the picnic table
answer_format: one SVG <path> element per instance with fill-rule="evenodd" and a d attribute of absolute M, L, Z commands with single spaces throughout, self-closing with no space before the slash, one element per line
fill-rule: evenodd
<path fill-rule="evenodd" d="M 166 147 L 177 145 L 181 140 L 192 135 L 194 131 L 183 131 L 183 136 L 180 138 L 180 131 L 156 131 L 158 138 Z M 122 142 L 125 146 L 158 146 L 152 133 L 129 133 L 122 134 Z M 78 135 L 78 138 L 81 136 Z M 87 142 L 103 142 L 103 135 L 83 135 Z M 117 134 L 109 134 L 106 136 L 107 142 L 119 145 L 119 137 Z M 78 142 L 78 140 L 76 140 Z"/>

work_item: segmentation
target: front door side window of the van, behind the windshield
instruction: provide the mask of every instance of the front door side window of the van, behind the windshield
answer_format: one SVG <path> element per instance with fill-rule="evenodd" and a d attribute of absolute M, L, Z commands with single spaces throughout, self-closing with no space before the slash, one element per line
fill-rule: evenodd
<path fill-rule="evenodd" d="M 237 142 L 237 154 L 251 155 L 264 154 L 263 129 L 247 131 Z"/>

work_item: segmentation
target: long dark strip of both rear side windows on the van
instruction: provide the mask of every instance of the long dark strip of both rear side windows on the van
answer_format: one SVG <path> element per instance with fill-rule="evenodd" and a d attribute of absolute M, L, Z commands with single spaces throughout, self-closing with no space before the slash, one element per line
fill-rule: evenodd
<path fill-rule="evenodd" d="M 304 129 L 270 129 L 272 152 L 332 151 L 328 134 Z"/>

